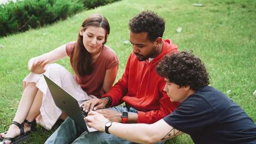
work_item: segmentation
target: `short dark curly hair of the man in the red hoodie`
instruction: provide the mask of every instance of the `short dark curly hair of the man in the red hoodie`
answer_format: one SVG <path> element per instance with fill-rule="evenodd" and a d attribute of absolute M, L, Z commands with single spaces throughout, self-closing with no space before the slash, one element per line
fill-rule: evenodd
<path fill-rule="evenodd" d="M 133 33 L 147 32 L 149 41 L 162 37 L 165 31 L 165 20 L 153 11 L 146 10 L 129 20 L 129 29 Z"/>

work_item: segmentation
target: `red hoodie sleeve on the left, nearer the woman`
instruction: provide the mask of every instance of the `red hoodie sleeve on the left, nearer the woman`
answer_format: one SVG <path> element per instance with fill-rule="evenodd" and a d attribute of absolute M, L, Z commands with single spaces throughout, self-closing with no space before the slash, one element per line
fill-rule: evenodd
<path fill-rule="evenodd" d="M 125 72 L 123 73 L 122 77 L 110 89 L 110 91 L 108 93 L 106 93 L 105 95 L 102 96 L 102 97 L 109 96 L 111 98 L 110 107 L 118 106 L 119 104 L 123 103 L 122 98 L 128 92 L 128 76 L 129 76 L 130 57 L 131 57 L 131 55 L 128 58 L 128 61 L 126 63 Z"/>

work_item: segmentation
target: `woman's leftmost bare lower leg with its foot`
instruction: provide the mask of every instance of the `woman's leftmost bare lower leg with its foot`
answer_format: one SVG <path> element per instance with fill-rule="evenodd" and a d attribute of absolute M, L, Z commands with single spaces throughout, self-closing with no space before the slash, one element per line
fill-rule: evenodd
<path fill-rule="evenodd" d="M 25 90 L 23 91 L 22 97 L 20 99 L 18 109 L 13 121 L 18 123 L 23 123 L 27 114 L 34 102 L 35 96 L 37 94 L 38 88 L 36 87 L 36 83 L 30 82 L 27 84 Z M 3 137 L 15 137 L 20 135 L 20 130 L 16 125 L 10 125 L 9 130 L 6 135 L 1 134 L 0 136 Z M 9 144 L 10 141 L 5 141 L 6 144 Z"/>

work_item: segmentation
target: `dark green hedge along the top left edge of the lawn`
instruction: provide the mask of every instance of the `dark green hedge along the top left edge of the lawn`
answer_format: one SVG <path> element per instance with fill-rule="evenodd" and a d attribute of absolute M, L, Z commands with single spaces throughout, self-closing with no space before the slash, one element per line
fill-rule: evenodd
<path fill-rule="evenodd" d="M 0 5 L 0 36 L 65 19 L 84 9 L 118 0 L 18 0 Z"/>

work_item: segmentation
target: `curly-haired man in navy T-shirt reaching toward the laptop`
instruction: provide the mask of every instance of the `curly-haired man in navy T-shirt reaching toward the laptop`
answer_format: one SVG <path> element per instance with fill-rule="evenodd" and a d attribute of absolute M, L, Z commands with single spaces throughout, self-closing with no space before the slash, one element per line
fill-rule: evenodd
<path fill-rule="evenodd" d="M 195 144 L 256 144 L 256 125 L 232 99 L 208 86 L 204 64 L 190 52 L 166 56 L 157 66 L 165 78 L 170 101 L 180 101 L 173 113 L 158 122 L 120 124 L 109 122 L 97 112 L 86 117 L 88 125 L 137 143 L 155 143 L 183 133 Z"/>

